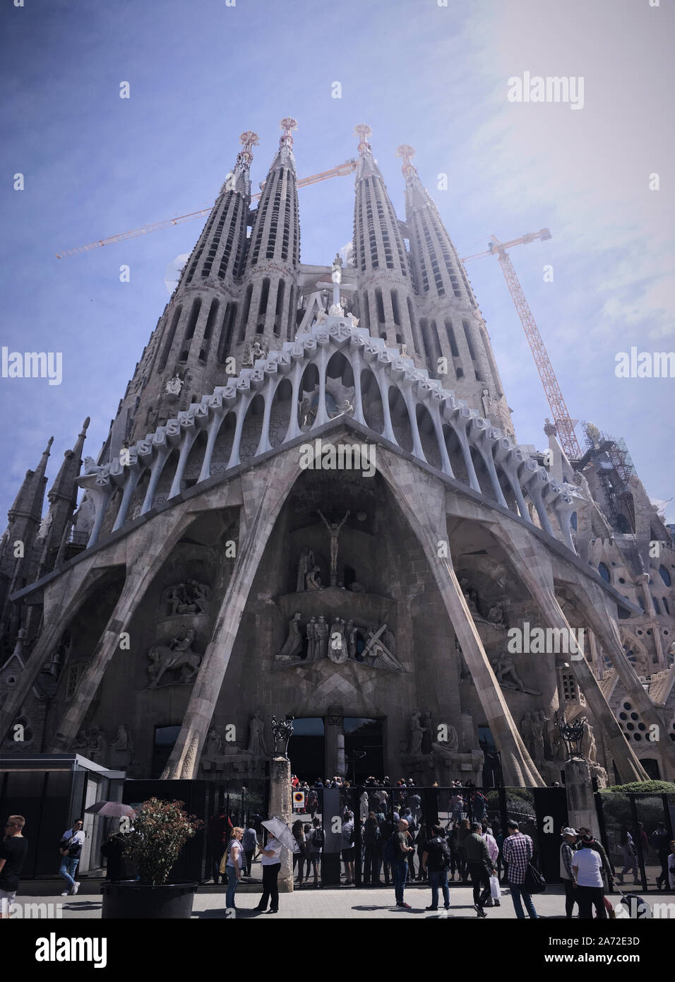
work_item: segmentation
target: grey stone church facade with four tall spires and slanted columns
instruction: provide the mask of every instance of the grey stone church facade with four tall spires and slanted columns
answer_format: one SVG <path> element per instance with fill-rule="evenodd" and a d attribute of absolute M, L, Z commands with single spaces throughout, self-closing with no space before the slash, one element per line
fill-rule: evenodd
<path fill-rule="evenodd" d="M 410 147 L 400 221 L 357 128 L 351 254 L 301 263 L 282 126 L 255 209 L 241 136 L 101 454 L 86 420 L 46 512 L 51 442 L 26 473 L 1 752 L 257 776 L 289 715 L 323 721 L 310 781 L 345 772 L 349 720 L 377 727 L 378 777 L 537 787 L 564 716 L 600 782 L 672 780 L 675 550 L 634 469 L 608 481 L 592 429 L 581 461 L 551 425 L 548 453 L 517 445 Z"/>

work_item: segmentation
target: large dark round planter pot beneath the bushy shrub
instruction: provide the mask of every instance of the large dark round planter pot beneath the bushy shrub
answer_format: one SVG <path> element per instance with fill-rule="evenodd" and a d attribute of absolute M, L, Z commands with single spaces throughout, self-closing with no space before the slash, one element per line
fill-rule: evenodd
<path fill-rule="evenodd" d="M 146 886 L 137 880 L 102 883 L 104 919 L 188 920 L 196 883 L 165 883 Z"/>

